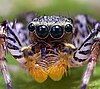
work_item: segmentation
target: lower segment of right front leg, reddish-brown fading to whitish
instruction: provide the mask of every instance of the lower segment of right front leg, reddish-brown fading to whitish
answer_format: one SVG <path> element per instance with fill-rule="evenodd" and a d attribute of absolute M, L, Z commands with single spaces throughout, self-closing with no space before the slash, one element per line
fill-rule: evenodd
<path fill-rule="evenodd" d="M 94 71 L 94 68 L 96 66 L 99 53 L 100 53 L 100 43 L 98 42 L 98 43 L 94 44 L 93 51 L 89 57 L 89 63 L 87 65 L 86 71 L 85 71 L 83 78 L 82 78 L 81 89 L 86 89 L 86 87 L 89 83 L 90 77 L 91 77 L 91 75 Z"/>

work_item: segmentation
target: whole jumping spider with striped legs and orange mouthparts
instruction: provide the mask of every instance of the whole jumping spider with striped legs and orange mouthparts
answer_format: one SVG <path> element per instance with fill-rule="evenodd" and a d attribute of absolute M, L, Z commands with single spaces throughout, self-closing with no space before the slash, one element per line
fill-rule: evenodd
<path fill-rule="evenodd" d="M 87 63 L 81 85 L 86 89 L 100 53 L 100 23 L 86 15 L 76 16 L 75 21 L 63 16 L 33 17 L 31 14 L 33 20 L 29 21 L 27 15 L 27 26 L 21 22 L 1 23 L 1 53 L 8 49 L 40 83 L 48 76 L 58 81 L 70 68 Z M 88 25 L 93 28 L 89 30 Z M 7 89 L 12 89 L 5 55 L 0 56 L 0 61 Z"/>

